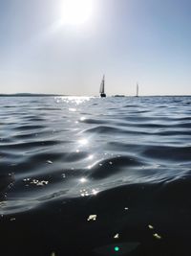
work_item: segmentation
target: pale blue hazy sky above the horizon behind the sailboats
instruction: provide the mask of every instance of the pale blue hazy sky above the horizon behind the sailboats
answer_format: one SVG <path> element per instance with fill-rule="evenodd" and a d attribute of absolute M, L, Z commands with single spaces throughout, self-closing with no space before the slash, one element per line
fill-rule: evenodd
<path fill-rule="evenodd" d="M 0 93 L 191 95 L 190 0 L 66 1 L 0 0 Z"/>

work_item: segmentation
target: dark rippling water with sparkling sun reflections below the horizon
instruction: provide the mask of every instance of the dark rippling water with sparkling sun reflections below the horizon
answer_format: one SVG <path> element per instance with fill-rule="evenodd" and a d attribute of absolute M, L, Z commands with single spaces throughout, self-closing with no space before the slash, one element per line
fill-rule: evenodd
<path fill-rule="evenodd" d="M 191 255 L 191 97 L 0 98 L 0 255 Z"/>

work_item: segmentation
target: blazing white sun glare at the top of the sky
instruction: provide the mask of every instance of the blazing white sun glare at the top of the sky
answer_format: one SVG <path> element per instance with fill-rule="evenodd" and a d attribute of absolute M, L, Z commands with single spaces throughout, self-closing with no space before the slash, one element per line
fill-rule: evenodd
<path fill-rule="evenodd" d="M 62 21 L 71 25 L 86 23 L 93 9 L 93 0 L 64 0 Z"/>

